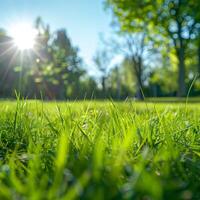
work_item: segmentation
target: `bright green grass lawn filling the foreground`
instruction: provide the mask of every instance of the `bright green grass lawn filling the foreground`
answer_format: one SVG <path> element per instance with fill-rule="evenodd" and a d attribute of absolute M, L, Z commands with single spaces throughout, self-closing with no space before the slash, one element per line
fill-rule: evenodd
<path fill-rule="evenodd" d="M 0 199 L 200 199 L 200 104 L 1 101 Z"/>

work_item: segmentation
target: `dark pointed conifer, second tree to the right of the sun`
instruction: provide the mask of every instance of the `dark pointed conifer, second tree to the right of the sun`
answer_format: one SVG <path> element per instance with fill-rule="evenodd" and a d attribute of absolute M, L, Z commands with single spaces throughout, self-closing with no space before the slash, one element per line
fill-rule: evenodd
<path fill-rule="evenodd" d="M 81 69 L 82 59 L 78 55 L 78 48 L 72 46 L 65 29 L 56 32 L 52 47 L 60 97 L 73 96 L 76 98 L 80 89 L 80 77 L 85 73 Z"/>

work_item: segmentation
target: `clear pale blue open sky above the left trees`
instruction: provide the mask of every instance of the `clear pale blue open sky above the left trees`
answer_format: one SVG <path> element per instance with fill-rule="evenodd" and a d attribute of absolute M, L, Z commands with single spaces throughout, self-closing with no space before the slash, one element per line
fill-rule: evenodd
<path fill-rule="evenodd" d="M 111 16 L 104 11 L 103 0 L 0 0 L 0 27 L 19 20 L 33 23 L 37 16 L 52 31 L 66 28 L 88 67 L 92 67 L 99 34 L 111 32 Z"/>

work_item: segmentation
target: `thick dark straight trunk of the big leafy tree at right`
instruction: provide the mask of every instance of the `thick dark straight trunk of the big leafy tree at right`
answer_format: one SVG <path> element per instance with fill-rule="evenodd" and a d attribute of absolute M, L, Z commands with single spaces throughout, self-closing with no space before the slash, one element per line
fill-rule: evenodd
<path fill-rule="evenodd" d="M 185 51 L 183 45 L 180 45 L 178 49 L 178 97 L 185 96 L 186 87 L 185 87 Z"/>

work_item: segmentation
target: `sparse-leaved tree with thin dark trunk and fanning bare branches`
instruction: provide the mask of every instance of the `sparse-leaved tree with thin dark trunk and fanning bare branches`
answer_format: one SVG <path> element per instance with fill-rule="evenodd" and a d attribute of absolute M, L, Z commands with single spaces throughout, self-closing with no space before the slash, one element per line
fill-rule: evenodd
<path fill-rule="evenodd" d="M 144 24 L 143 24 L 144 25 Z M 150 66 L 149 61 L 153 60 L 155 54 L 153 42 L 150 41 L 150 34 L 145 27 L 138 32 L 117 31 L 112 39 L 105 41 L 111 52 L 122 55 L 124 60 L 131 66 L 131 73 L 134 75 L 136 98 L 143 100 L 144 81 L 146 80 L 145 71 Z"/>

